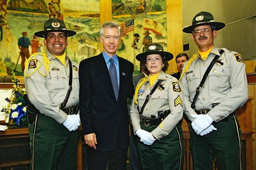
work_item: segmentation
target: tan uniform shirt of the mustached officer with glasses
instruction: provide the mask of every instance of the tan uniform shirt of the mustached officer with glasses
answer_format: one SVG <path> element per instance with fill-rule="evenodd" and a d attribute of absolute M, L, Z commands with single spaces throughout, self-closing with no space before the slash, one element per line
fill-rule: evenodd
<path fill-rule="evenodd" d="M 226 48 L 223 48 L 223 50 L 224 53 L 218 59 L 223 65 L 218 62 L 213 65 L 195 102 L 195 109 L 211 109 L 208 115 L 215 122 L 227 117 L 248 99 L 248 87 L 243 59 L 240 54 L 234 51 L 228 51 Z M 183 74 L 180 80 L 183 90 L 184 113 L 190 121 L 194 120 L 190 114 L 196 114 L 191 108 L 196 88 L 200 84 L 215 54 L 220 55 L 216 46 L 212 48 L 205 61 L 198 54 L 198 58 L 189 65 L 189 69 Z M 186 64 L 183 68 L 186 67 Z M 218 105 L 212 108 L 212 104 Z"/>

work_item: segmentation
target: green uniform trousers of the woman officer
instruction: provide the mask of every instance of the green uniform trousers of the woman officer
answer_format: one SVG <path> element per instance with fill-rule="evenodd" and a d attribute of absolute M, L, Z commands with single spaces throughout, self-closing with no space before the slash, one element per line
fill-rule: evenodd
<path fill-rule="evenodd" d="M 140 126 L 148 132 L 157 127 L 157 125 L 146 127 L 142 123 Z M 143 144 L 138 138 L 138 150 L 143 170 L 182 170 L 184 139 L 180 124 L 167 136 L 155 140 L 152 145 Z"/>

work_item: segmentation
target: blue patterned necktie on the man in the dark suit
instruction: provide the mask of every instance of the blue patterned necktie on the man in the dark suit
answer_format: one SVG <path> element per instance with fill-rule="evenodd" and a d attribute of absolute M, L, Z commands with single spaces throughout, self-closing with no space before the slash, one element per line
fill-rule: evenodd
<path fill-rule="evenodd" d="M 116 101 L 117 101 L 119 89 L 118 89 L 118 82 L 117 82 L 116 66 L 115 66 L 114 60 L 112 58 L 109 59 L 109 61 L 111 62 L 111 64 L 108 68 L 108 71 L 109 71 L 109 75 L 111 78 L 113 90 L 114 90 L 114 93 L 116 96 Z"/>

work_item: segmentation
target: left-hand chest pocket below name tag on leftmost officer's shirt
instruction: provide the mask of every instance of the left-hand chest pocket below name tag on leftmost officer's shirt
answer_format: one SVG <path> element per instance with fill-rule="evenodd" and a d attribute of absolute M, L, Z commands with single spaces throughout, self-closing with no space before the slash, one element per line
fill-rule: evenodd
<path fill-rule="evenodd" d="M 66 72 L 50 71 L 50 76 L 47 77 L 47 86 L 52 90 L 64 90 L 68 87 Z"/>

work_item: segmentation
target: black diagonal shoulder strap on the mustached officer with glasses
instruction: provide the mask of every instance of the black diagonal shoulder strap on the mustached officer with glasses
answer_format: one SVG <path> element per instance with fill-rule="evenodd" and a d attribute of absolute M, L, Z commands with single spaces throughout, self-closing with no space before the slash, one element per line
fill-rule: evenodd
<path fill-rule="evenodd" d="M 222 50 L 222 49 L 219 51 L 220 54 L 222 54 L 223 52 L 224 52 L 224 50 Z M 220 56 L 221 56 L 221 55 L 220 55 Z M 218 60 L 218 58 L 219 58 L 220 56 L 219 56 L 219 55 L 215 55 L 214 59 L 212 59 L 212 62 L 211 62 L 210 65 L 209 65 L 209 67 L 208 67 L 207 70 L 205 71 L 203 79 L 201 80 L 200 84 L 199 84 L 198 87 L 196 88 L 195 96 L 194 96 L 193 102 L 191 103 L 191 108 L 192 108 L 192 109 L 195 108 L 195 101 L 196 101 L 196 99 L 198 98 L 198 94 L 199 94 L 201 88 L 203 87 L 204 82 L 205 82 L 205 80 L 207 79 L 210 70 L 212 69 L 213 65 L 215 64 L 215 62 Z"/>

